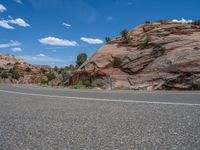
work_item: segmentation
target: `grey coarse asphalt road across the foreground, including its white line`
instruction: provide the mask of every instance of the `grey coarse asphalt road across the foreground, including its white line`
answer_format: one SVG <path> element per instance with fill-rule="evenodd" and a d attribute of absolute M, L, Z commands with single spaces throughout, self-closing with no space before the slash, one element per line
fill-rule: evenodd
<path fill-rule="evenodd" d="M 0 150 L 199 150 L 200 92 L 0 85 Z"/>

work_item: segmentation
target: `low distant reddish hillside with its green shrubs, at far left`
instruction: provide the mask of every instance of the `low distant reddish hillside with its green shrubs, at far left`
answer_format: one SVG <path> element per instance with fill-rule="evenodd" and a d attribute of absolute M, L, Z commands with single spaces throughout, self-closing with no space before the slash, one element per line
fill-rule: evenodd
<path fill-rule="evenodd" d="M 50 68 L 36 67 L 13 55 L 0 55 L 0 82 L 37 84 L 45 82 Z"/>

